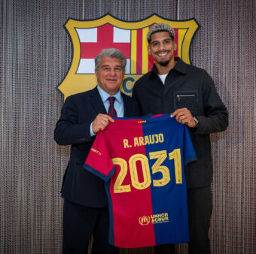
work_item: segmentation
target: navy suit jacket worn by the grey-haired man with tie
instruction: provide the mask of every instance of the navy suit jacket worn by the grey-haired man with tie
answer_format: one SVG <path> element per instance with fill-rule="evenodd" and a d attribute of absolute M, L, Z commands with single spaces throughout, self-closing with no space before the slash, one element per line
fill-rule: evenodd
<path fill-rule="evenodd" d="M 121 92 L 124 116 L 139 116 L 137 102 Z M 62 181 L 62 198 L 86 207 L 105 207 L 108 198 L 104 182 L 83 166 L 95 137 L 90 137 L 90 124 L 99 113 L 107 113 L 97 88 L 66 98 L 56 123 L 54 140 L 59 145 L 72 145 L 69 165 Z"/>

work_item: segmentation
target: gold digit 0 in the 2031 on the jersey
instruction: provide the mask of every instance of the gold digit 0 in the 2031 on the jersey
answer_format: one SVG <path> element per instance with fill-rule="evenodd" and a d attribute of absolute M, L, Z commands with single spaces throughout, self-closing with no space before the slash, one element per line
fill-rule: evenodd
<path fill-rule="evenodd" d="M 136 162 L 141 162 L 141 165 L 142 165 L 142 174 L 143 174 L 143 180 L 144 180 L 142 183 L 139 182 L 138 169 L 137 169 Z M 130 167 L 132 185 L 134 188 L 146 189 L 148 188 L 148 186 L 151 185 L 151 173 L 149 171 L 147 156 L 140 153 L 131 156 L 131 158 L 129 159 L 129 167 Z"/>

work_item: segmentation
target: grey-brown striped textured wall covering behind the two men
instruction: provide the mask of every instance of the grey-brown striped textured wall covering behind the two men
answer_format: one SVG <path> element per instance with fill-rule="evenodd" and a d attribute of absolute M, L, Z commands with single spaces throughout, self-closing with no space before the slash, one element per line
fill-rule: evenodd
<path fill-rule="evenodd" d="M 0 1 L 0 253 L 60 253 L 59 189 L 69 147 L 53 141 L 62 95 L 56 86 L 72 61 L 63 28 L 69 17 L 111 14 L 126 21 L 157 13 L 194 17 L 194 65 L 215 80 L 230 112 L 226 132 L 212 135 L 212 253 L 256 252 L 254 0 Z M 177 246 L 187 253 L 187 245 Z M 120 253 L 154 253 L 152 248 Z"/>

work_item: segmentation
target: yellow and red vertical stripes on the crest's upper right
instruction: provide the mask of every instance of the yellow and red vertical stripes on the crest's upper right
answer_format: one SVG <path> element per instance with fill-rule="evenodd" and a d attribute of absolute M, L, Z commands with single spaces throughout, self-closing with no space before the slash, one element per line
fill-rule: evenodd
<path fill-rule="evenodd" d="M 145 74 L 154 65 L 153 58 L 148 55 L 148 41 L 145 40 L 149 28 L 131 30 L 131 74 Z M 174 29 L 174 32 L 177 44 L 174 55 L 181 57 L 181 45 L 187 29 Z"/>

